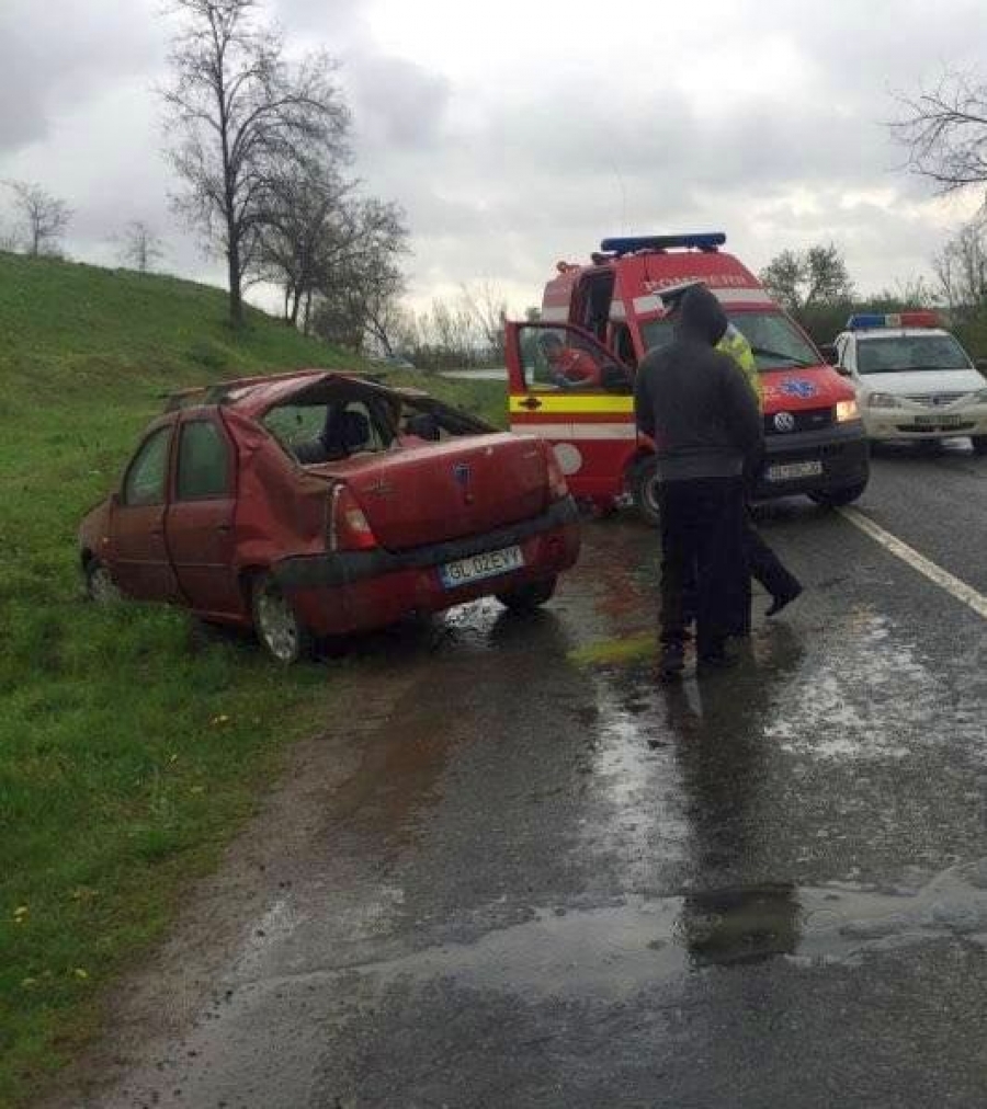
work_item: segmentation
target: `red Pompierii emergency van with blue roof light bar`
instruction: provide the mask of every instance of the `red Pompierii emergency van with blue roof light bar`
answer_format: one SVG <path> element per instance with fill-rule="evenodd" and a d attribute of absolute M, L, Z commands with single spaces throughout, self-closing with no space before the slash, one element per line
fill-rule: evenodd
<path fill-rule="evenodd" d="M 588 264 L 560 262 L 537 323 L 508 323 L 511 428 L 548 439 L 570 488 L 657 520 L 654 452 L 634 424 L 634 374 L 672 340 L 663 288 L 704 283 L 757 359 L 766 459 L 758 498 L 845 505 L 864 491 L 868 447 L 854 389 L 733 255 L 721 233 L 606 238 Z"/>

